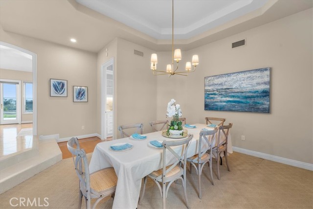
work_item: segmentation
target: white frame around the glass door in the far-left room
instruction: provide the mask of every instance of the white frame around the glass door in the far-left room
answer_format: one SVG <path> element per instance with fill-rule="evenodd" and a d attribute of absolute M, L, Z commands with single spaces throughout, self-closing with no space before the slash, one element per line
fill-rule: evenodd
<path fill-rule="evenodd" d="M 16 87 L 16 120 L 7 120 L 4 121 L 3 118 L 3 108 L 1 108 L 1 125 L 3 124 L 14 124 L 14 123 L 19 123 L 21 124 L 21 118 L 22 118 L 22 109 L 21 109 L 21 81 L 20 80 L 9 80 L 9 79 L 0 79 L 0 82 L 2 83 L 12 83 L 12 84 L 17 84 L 18 86 Z M 1 104 L 3 104 L 3 85 L 0 84 L 0 91 L 1 91 Z"/>

